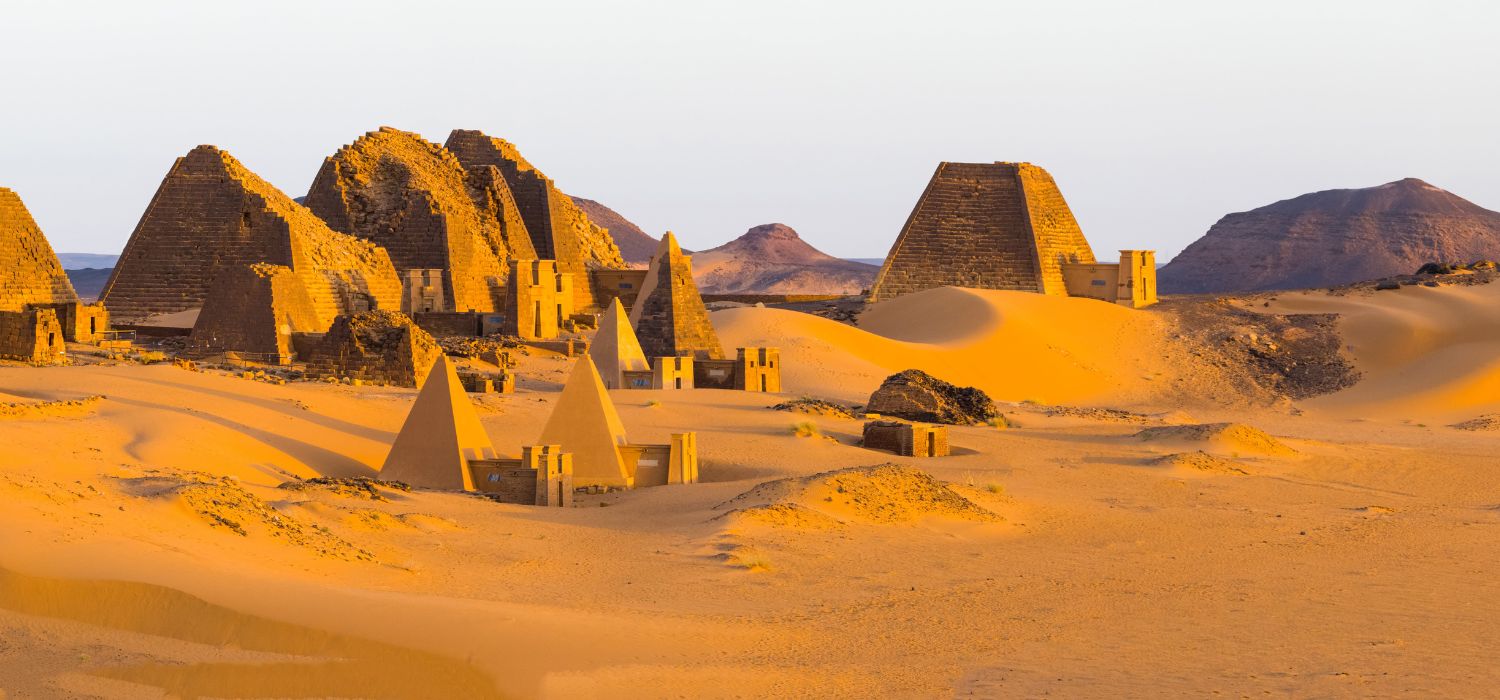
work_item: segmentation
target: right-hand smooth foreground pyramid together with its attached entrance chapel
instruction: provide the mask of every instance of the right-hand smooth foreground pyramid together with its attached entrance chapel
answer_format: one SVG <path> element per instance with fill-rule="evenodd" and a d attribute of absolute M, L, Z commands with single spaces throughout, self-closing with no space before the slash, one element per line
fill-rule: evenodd
<path fill-rule="evenodd" d="M 537 442 L 562 445 L 573 453 L 573 484 L 578 487 L 633 489 L 698 481 L 698 435 L 674 433 L 666 445 L 632 444 L 586 355 L 578 360 Z"/>

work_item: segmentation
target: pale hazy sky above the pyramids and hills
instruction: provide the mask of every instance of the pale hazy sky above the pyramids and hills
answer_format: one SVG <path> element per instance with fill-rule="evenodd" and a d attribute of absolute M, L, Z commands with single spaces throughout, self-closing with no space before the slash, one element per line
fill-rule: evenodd
<path fill-rule="evenodd" d="M 15 1 L 0 186 L 118 252 L 214 144 L 288 195 L 381 124 L 514 141 L 708 247 L 783 222 L 882 256 L 939 160 L 1029 160 L 1096 252 L 1420 177 L 1500 208 L 1492 1 Z"/>

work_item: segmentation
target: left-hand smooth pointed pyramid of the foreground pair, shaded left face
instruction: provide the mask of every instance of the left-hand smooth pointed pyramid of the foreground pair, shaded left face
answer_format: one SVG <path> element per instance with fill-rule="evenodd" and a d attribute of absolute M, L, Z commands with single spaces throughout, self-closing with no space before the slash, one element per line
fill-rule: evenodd
<path fill-rule="evenodd" d="M 494 457 L 495 447 L 478 423 L 447 355 L 432 363 L 406 423 L 380 469 L 380 478 L 422 489 L 474 490 L 468 460 Z"/>

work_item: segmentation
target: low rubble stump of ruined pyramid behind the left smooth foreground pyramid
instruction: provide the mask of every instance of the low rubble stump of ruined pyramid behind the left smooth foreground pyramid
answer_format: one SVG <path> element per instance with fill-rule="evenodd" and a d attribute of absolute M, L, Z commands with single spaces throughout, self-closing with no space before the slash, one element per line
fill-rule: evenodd
<path fill-rule="evenodd" d="M 292 342 L 309 375 L 398 387 L 422 387 L 444 357 L 438 342 L 410 316 L 386 310 L 339 316 L 328 333 Z"/>

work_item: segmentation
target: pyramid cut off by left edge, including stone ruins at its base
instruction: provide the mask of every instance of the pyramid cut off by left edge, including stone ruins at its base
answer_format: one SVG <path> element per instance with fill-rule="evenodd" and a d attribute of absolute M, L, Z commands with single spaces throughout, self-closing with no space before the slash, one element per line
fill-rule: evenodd
<path fill-rule="evenodd" d="M 0 187 L 0 357 L 60 361 L 64 340 L 96 342 L 108 319 L 104 306 L 80 301 L 21 196 Z"/>

